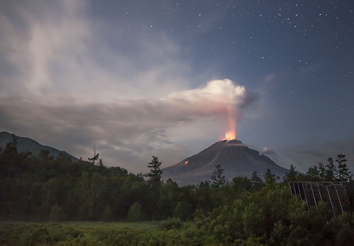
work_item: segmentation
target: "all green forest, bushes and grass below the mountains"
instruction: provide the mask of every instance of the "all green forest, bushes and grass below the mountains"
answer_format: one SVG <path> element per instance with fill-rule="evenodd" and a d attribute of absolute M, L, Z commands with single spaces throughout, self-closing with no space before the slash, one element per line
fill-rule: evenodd
<path fill-rule="evenodd" d="M 143 176 L 105 166 L 96 151 L 72 162 L 48 150 L 18 153 L 16 144 L 14 136 L 0 151 L 1 245 L 354 244 L 352 212 L 334 218 L 324 203 L 308 211 L 287 185 L 343 181 L 353 204 L 343 154 L 306 175 L 291 166 L 282 178 L 268 170 L 228 182 L 217 165 L 210 180 L 179 187 L 161 180 L 155 156 Z"/>

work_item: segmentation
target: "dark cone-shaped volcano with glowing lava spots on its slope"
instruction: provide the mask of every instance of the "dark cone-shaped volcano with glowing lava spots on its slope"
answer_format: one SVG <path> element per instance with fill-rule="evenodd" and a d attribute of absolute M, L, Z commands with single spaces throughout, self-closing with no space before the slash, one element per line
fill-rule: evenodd
<path fill-rule="evenodd" d="M 171 178 L 178 185 L 199 184 L 209 180 L 215 165 L 221 165 L 223 175 L 229 181 L 234 177 L 251 177 L 256 171 L 260 177 L 269 168 L 272 174 L 285 176 L 288 169 L 275 164 L 269 157 L 259 155 L 239 140 L 223 140 L 216 142 L 209 148 L 188 157 L 181 162 L 162 169 L 162 178 L 166 181 Z"/>

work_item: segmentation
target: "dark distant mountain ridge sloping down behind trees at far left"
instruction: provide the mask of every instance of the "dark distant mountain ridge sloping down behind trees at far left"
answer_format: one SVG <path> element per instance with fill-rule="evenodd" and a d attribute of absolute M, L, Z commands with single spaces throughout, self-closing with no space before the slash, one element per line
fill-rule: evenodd
<path fill-rule="evenodd" d="M 44 150 L 48 149 L 50 151 L 51 156 L 57 157 L 59 153 L 63 153 L 65 156 L 70 157 L 73 162 L 79 161 L 78 158 L 72 156 L 71 154 L 69 154 L 65 151 L 57 150 L 56 148 L 53 148 L 50 146 L 41 145 L 39 142 L 37 142 L 33 139 L 30 139 L 28 137 L 20 137 L 17 135 L 16 135 L 16 137 L 17 137 L 17 151 L 18 152 L 30 151 L 30 152 L 32 152 L 33 155 L 36 155 L 36 154 L 39 154 L 42 149 L 44 149 Z M 12 142 L 12 134 L 8 133 L 6 131 L 1 131 L 0 132 L 0 147 L 2 149 L 4 149 L 8 142 Z"/>

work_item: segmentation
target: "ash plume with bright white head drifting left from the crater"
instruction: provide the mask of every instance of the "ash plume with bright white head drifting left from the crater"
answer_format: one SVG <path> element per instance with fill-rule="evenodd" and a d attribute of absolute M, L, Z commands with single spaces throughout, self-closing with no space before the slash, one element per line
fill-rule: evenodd
<path fill-rule="evenodd" d="M 189 152 L 171 141 L 167 130 L 176 128 L 175 132 L 186 140 L 197 138 L 185 134 L 179 124 L 188 128 L 200 120 L 225 118 L 227 107 L 245 106 L 250 102 L 248 97 L 245 87 L 227 79 L 210 81 L 205 87 L 175 92 L 163 99 L 103 103 L 70 98 L 2 97 L 0 111 L 5 118 L 0 127 L 18 135 L 31 133 L 29 137 L 44 139 L 54 147 L 65 146 L 72 154 L 89 156 L 96 145 L 97 151 L 101 149 L 108 156 L 120 153 L 125 165 L 155 152 L 176 156 L 173 161 L 177 163 L 177 156 L 182 158 L 182 154 Z M 177 155 L 173 154 L 177 151 Z M 104 154 L 101 156 L 104 158 Z M 113 159 L 108 164 L 114 165 Z"/>

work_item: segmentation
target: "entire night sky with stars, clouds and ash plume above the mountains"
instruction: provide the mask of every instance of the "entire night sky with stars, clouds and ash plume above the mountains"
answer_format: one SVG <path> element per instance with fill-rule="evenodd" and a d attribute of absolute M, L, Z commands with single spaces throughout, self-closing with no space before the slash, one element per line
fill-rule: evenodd
<path fill-rule="evenodd" d="M 354 171 L 352 0 L 0 6 L 1 131 L 138 173 L 231 126 L 285 168 Z"/>

